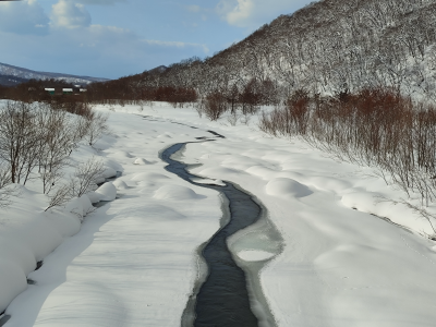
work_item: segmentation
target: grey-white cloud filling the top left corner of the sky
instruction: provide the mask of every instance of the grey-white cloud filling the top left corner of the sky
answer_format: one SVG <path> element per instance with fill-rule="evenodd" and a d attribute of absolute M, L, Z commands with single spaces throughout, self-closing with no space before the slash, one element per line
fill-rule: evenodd
<path fill-rule="evenodd" d="M 36 0 L 0 2 L 0 32 L 45 35 L 48 23 Z"/>

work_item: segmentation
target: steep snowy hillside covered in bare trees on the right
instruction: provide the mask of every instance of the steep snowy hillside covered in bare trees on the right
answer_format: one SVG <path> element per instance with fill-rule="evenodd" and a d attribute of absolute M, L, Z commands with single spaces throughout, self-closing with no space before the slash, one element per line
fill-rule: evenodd
<path fill-rule="evenodd" d="M 435 44 L 433 0 L 323 0 L 277 17 L 214 57 L 122 81 L 133 93 L 171 86 L 230 94 L 254 80 L 266 83 L 276 100 L 300 88 L 338 94 L 379 86 L 435 99 Z"/>

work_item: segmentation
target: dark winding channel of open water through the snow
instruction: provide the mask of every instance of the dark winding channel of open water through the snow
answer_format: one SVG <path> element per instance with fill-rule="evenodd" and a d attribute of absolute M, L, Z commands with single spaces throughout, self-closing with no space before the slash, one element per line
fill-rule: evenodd
<path fill-rule="evenodd" d="M 202 255 L 209 275 L 196 294 L 194 326 L 258 326 L 250 306 L 245 274 L 235 264 L 226 240 L 255 223 L 261 218 L 262 208 L 250 194 L 229 182 L 225 186 L 193 182 L 191 179 L 198 177 L 187 172 L 185 164 L 171 159 L 171 155 L 183 149 L 185 144 L 174 144 L 160 154 L 161 159 L 168 162 L 166 169 L 191 184 L 220 192 L 228 198 L 230 209 L 230 221 L 203 247 Z"/>

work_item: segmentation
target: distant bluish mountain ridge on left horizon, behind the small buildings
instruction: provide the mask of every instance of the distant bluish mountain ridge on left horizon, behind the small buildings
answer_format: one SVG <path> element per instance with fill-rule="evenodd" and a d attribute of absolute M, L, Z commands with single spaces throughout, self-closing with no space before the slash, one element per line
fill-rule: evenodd
<path fill-rule="evenodd" d="M 62 73 L 49 73 L 49 72 L 37 72 L 7 63 L 0 62 L 0 84 L 7 86 L 13 86 L 26 82 L 28 80 L 62 80 L 66 83 L 73 84 L 89 84 L 93 82 L 105 82 L 108 78 L 90 77 L 90 76 L 78 76 Z"/>

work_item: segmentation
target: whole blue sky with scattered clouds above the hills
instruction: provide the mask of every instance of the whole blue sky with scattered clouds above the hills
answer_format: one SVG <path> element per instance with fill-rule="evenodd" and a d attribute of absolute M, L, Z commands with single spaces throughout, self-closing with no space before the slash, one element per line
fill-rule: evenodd
<path fill-rule="evenodd" d="M 213 56 L 311 0 L 0 0 L 0 62 L 118 78 Z"/>

